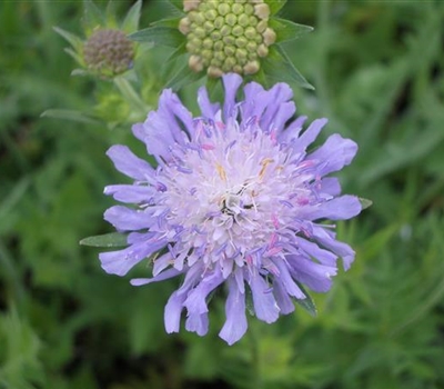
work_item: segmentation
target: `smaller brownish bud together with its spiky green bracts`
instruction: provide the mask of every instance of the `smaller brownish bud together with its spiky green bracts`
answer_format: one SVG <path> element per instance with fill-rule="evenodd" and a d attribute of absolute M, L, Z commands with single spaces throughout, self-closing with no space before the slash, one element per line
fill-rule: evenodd
<path fill-rule="evenodd" d="M 85 40 L 54 28 L 71 43 L 72 48 L 65 51 L 81 67 L 72 74 L 94 74 L 103 79 L 112 79 L 124 73 L 133 64 L 135 47 L 127 34 L 138 29 L 141 0 L 134 3 L 121 23 L 117 22 L 113 2 L 109 2 L 105 13 L 102 13 L 91 0 L 84 0 L 83 3 Z"/>

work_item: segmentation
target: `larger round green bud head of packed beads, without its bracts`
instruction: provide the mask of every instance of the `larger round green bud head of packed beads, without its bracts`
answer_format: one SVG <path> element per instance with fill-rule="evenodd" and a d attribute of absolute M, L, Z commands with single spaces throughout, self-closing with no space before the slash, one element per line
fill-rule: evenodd
<path fill-rule="evenodd" d="M 223 73 L 254 74 L 260 59 L 276 40 L 263 0 L 184 0 L 186 17 L 179 30 L 186 36 L 190 68 Z"/>

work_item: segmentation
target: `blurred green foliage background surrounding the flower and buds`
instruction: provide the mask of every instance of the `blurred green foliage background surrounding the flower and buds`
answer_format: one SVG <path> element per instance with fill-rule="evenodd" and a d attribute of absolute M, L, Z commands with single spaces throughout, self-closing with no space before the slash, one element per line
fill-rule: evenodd
<path fill-rule="evenodd" d="M 315 27 L 287 46 L 316 88 L 295 88 L 299 112 L 327 117 L 324 137 L 357 141 L 342 182 L 374 205 L 339 226 L 356 261 L 314 296 L 316 318 L 301 309 L 271 326 L 251 318 L 228 347 L 218 296 L 206 337 L 168 336 L 163 306 L 176 281 L 133 288 L 100 269 L 99 250 L 79 246 L 112 230 L 102 191 L 123 178 L 108 147 L 143 150 L 129 124 L 40 114 L 94 107 L 119 122 L 111 108 L 131 120 L 131 107 L 112 83 L 69 77 L 74 63 L 52 27 L 81 33 L 80 1 L 0 2 L 0 388 L 444 388 L 443 6 L 285 6 L 284 17 Z M 168 12 L 145 0 L 141 28 Z M 165 53 L 141 58 L 155 80 L 142 94 L 155 107 Z M 182 91 L 191 106 L 194 90 Z"/>

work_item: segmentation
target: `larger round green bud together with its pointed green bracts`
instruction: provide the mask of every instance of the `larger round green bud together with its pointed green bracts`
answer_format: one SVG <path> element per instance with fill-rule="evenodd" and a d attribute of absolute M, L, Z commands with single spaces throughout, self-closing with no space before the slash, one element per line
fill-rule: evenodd
<path fill-rule="evenodd" d="M 299 38 L 311 27 L 280 19 L 286 0 L 170 0 L 181 12 L 129 38 L 175 49 L 171 59 L 186 56 L 170 80 L 181 86 L 203 76 L 236 72 L 262 83 L 296 82 L 312 88 L 284 52 L 282 42 Z"/>

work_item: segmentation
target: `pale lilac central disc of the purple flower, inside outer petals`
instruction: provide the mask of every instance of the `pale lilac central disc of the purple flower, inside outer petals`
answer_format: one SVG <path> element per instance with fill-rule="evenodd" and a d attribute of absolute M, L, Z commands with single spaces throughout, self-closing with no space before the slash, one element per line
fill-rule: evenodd
<path fill-rule="evenodd" d="M 167 230 L 180 226 L 183 250 L 202 249 L 209 261 L 243 261 L 252 250 L 273 249 L 276 232 L 294 220 L 297 199 L 310 196 L 304 181 L 311 177 L 294 176 L 291 153 L 272 134 L 222 126 L 203 131 L 200 149 L 165 169 Z"/>

